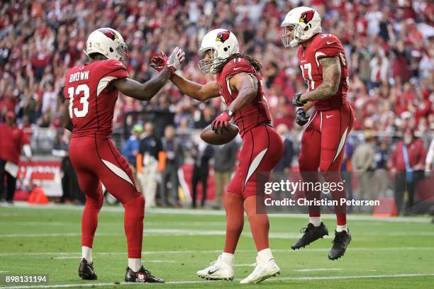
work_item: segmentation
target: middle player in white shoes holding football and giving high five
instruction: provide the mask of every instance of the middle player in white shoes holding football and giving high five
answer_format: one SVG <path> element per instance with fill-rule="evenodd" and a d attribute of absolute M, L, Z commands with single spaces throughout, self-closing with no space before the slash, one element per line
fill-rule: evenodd
<path fill-rule="evenodd" d="M 269 173 L 283 154 L 283 143 L 271 125 L 267 101 L 262 89 L 261 65 L 240 54 L 235 35 L 225 29 L 211 30 L 201 42 L 199 62 L 202 72 L 216 75 L 216 81 L 201 85 L 174 74 L 171 81 L 191 98 L 206 101 L 222 96 L 227 109 L 212 123 L 212 129 L 224 132 L 231 120 L 240 129 L 243 147 L 240 164 L 229 183 L 223 203 L 226 210 L 226 243 L 223 253 L 211 266 L 198 271 L 202 278 L 233 279 L 233 257 L 244 225 L 244 210 L 250 222 L 257 248 L 254 271 L 240 283 L 258 283 L 279 273 L 269 249 L 267 214 L 256 212 L 256 172 Z M 162 69 L 163 57 L 151 60 L 152 67 Z"/>

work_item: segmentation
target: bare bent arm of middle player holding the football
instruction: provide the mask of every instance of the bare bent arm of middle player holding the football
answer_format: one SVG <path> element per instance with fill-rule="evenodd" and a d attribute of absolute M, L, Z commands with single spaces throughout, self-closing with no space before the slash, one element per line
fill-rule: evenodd
<path fill-rule="evenodd" d="M 229 84 L 238 91 L 238 96 L 228 107 L 228 110 L 235 114 L 257 96 L 257 79 L 245 72 L 240 72 L 230 78 Z"/>

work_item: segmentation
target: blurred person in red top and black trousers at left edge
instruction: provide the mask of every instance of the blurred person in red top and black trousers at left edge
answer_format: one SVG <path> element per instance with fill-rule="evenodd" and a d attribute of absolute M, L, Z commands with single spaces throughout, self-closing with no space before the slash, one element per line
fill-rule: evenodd
<path fill-rule="evenodd" d="M 15 113 L 9 111 L 5 118 L 6 122 L 0 123 L 0 200 L 3 199 L 6 180 L 6 202 L 13 204 L 21 149 L 26 154 L 28 162 L 31 160 L 32 152 L 30 140 L 15 123 Z"/>

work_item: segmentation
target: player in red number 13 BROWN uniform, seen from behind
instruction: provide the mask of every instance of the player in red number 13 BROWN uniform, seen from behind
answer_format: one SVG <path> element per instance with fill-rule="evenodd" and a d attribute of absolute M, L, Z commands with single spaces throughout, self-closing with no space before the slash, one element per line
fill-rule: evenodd
<path fill-rule="evenodd" d="M 79 64 L 65 75 L 65 128 L 72 131 L 69 155 L 77 171 L 79 186 L 86 194 L 82 216 L 82 261 L 79 276 L 94 280 L 91 248 L 103 204 L 101 183 L 125 208 L 124 228 L 128 244 L 126 282 L 162 283 L 142 266 L 145 199 L 135 186 L 128 162 L 111 141 L 113 110 L 118 91 L 140 101 L 149 101 L 184 61 L 176 47 L 164 55 L 163 69 L 140 84 L 128 78 L 128 48 L 118 31 L 100 28 L 87 38 L 89 64 Z"/>

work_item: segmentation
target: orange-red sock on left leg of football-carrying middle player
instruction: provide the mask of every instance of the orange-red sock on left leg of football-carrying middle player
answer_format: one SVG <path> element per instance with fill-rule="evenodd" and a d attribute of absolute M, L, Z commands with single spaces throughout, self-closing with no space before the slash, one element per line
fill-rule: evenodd
<path fill-rule="evenodd" d="M 235 193 L 226 193 L 223 197 L 226 210 L 225 252 L 233 254 L 244 227 L 243 197 Z"/>

